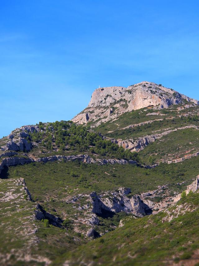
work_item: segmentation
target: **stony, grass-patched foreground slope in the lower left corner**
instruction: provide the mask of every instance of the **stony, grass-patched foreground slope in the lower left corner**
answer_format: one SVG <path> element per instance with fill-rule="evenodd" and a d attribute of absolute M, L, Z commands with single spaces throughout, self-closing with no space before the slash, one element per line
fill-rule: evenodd
<path fill-rule="evenodd" d="M 15 265 L 16 259 L 20 261 L 20 257 L 28 255 L 32 262 L 26 265 L 39 265 L 36 263 L 38 255 L 41 261 L 43 258 L 53 260 L 80 242 L 85 243 L 81 234 L 51 225 L 45 228 L 42 221 L 35 220 L 36 202 L 25 200 L 25 191 L 15 184 L 16 180 L 16 177 L 0 179 L 0 261 L 7 258 L 10 265 Z M 8 198 L 8 194 L 3 200 L 8 191 L 13 198 Z M 12 254 L 11 258 L 7 254 Z"/>

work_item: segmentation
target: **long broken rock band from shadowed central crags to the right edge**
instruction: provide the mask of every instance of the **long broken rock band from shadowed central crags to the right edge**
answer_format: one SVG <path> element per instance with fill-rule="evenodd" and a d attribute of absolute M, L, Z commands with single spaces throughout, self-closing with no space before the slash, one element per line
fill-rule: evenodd
<path fill-rule="evenodd" d="M 190 191 L 196 192 L 199 188 L 199 175 L 185 190 L 186 194 Z M 160 202 L 152 200 L 164 192 L 164 199 Z M 68 203 L 81 202 L 84 199 L 84 205 L 78 204 L 78 210 L 85 210 L 86 214 L 90 213 L 89 218 L 85 218 L 86 224 L 95 226 L 99 223 L 96 216 L 111 216 L 111 213 L 126 212 L 136 217 L 143 217 L 149 214 L 158 213 L 169 206 L 174 205 L 181 199 L 182 193 L 175 196 L 169 196 L 167 185 L 159 186 L 158 189 L 132 195 L 130 188 L 119 188 L 117 191 L 104 192 L 97 194 L 92 192 L 89 195 L 79 194 L 67 200 Z M 95 214 L 95 215 L 92 215 Z M 92 218 L 90 218 L 92 217 Z M 171 220 L 170 220 L 171 221 Z"/>

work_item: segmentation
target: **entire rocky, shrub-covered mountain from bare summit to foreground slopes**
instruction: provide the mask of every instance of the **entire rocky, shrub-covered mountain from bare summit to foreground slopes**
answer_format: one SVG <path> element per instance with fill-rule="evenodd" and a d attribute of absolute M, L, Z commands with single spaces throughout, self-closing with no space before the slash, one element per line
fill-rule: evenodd
<path fill-rule="evenodd" d="M 198 265 L 198 192 L 199 101 L 98 88 L 0 139 L 0 264 Z"/>

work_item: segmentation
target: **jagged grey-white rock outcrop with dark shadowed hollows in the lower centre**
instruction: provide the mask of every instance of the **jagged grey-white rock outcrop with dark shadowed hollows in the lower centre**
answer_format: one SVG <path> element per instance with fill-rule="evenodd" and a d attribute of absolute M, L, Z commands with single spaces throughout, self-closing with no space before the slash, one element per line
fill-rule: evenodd
<path fill-rule="evenodd" d="M 130 193 L 130 188 L 119 188 L 117 191 L 104 192 L 102 194 L 97 194 L 96 192 L 92 192 L 89 195 L 79 194 L 68 199 L 67 202 L 75 203 L 80 198 L 86 200 L 87 203 L 83 206 L 79 205 L 77 209 L 89 211 L 89 215 L 85 216 L 81 222 L 83 221 L 84 224 L 91 226 L 99 222 L 95 214 L 109 216 L 113 213 L 124 211 L 142 217 L 152 213 L 150 207 L 143 202 L 139 195 L 129 195 Z"/>

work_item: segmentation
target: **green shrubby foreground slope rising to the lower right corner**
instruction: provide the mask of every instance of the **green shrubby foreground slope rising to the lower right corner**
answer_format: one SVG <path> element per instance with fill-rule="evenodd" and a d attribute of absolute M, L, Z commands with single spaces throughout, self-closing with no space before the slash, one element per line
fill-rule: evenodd
<path fill-rule="evenodd" d="M 164 259 L 171 259 L 170 263 L 172 259 L 175 262 L 189 259 L 199 248 L 199 194 L 192 194 L 178 204 L 190 205 L 194 211 L 181 213 L 171 222 L 164 223 L 164 212 L 141 219 L 127 218 L 123 227 L 65 254 L 56 263 L 70 260 L 75 265 L 84 261 L 101 265 L 155 266 L 168 265 Z"/>

